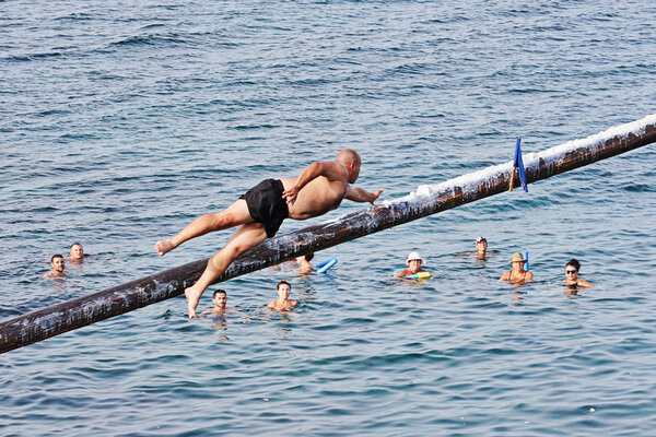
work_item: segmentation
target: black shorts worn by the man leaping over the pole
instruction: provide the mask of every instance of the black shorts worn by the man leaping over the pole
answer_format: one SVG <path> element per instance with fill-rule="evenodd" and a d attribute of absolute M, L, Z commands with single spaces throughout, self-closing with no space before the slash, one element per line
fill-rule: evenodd
<path fill-rule="evenodd" d="M 274 236 L 282 221 L 290 216 L 282 191 L 279 179 L 265 179 L 239 197 L 246 201 L 253 220 L 265 225 L 268 238 Z"/>

